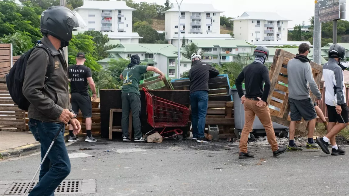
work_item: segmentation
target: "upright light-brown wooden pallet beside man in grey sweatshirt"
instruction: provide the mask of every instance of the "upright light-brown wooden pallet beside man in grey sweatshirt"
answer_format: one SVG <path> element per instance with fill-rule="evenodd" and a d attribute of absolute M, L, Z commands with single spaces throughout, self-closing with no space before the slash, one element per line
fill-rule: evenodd
<path fill-rule="evenodd" d="M 273 64 L 270 68 L 269 78 L 270 78 L 270 91 L 269 96 L 267 99 L 267 102 L 270 105 L 273 105 L 276 108 L 279 108 L 280 111 L 270 109 L 270 116 L 272 117 L 272 121 L 275 123 L 282 124 L 284 126 L 290 125 L 290 105 L 288 103 L 288 78 L 287 78 L 287 63 L 289 60 L 294 58 L 296 55 L 291 54 L 285 50 L 282 49 L 276 49 Z M 318 65 L 314 62 L 310 62 L 313 77 L 318 85 L 320 87 L 320 81 L 322 77 L 322 66 Z M 279 84 L 278 81 L 284 83 L 285 85 Z M 280 90 L 284 92 L 285 94 L 278 93 L 275 90 Z M 311 93 L 311 99 L 312 101 L 315 101 L 315 96 Z M 275 100 L 272 100 L 272 97 L 275 99 L 282 100 L 281 102 L 277 102 Z M 296 124 L 296 130 L 305 132 L 307 123 L 304 119 L 302 121 L 297 122 Z"/>

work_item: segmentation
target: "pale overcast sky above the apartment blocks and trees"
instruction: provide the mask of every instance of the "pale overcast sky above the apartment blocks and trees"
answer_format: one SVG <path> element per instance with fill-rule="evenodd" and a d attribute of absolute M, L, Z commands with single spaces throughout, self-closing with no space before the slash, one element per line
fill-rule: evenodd
<path fill-rule="evenodd" d="M 139 3 L 147 1 L 164 5 L 165 0 L 134 0 Z M 180 1 L 180 0 L 179 0 Z M 171 0 L 175 5 L 176 0 Z M 276 12 L 284 18 L 292 21 L 289 22 L 288 28 L 292 28 L 295 24 L 310 25 L 309 18 L 314 15 L 314 0 L 183 0 L 183 3 L 211 3 L 214 8 L 224 11 L 222 15 L 227 17 L 237 17 L 244 11 L 266 11 Z M 347 9 L 348 9 L 347 3 Z M 349 14 L 347 14 L 347 19 Z"/>

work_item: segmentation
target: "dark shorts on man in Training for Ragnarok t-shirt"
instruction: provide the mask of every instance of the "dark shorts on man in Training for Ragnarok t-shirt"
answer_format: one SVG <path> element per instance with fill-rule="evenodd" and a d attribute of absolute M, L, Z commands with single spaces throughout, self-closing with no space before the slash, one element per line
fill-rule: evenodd
<path fill-rule="evenodd" d="M 73 93 L 72 94 L 72 110 L 77 115 L 79 114 L 79 109 L 81 110 L 83 118 L 92 117 L 91 97 L 82 95 L 80 93 Z"/>

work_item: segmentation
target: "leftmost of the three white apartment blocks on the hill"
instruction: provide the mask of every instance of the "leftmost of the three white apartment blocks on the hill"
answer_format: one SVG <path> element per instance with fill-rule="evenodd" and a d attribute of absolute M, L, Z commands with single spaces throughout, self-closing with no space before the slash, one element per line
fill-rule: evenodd
<path fill-rule="evenodd" d="M 75 10 L 87 25 L 83 30 L 132 33 L 132 11 L 136 9 L 126 6 L 125 1 L 84 0 Z"/>

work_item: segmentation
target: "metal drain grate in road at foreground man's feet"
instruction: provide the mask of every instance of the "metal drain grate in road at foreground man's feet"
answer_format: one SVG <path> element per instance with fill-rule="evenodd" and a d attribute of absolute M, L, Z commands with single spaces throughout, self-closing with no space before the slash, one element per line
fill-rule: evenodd
<path fill-rule="evenodd" d="M 29 187 L 30 181 L 15 181 L 5 192 L 5 195 L 19 195 L 24 194 L 29 188 L 28 193 L 35 187 L 38 183 L 35 180 Z M 54 191 L 55 194 L 81 194 L 82 193 L 82 180 L 63 180 L 58 188 Z"/>

